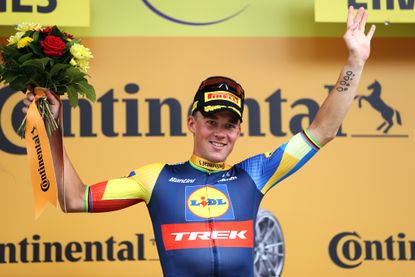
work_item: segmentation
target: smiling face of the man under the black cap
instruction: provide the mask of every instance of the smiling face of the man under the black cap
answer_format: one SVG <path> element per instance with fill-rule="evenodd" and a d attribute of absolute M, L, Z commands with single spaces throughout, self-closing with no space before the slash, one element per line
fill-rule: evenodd
<path fill-rule="evenodd" d="M 204 117 L 200 112 L 187 119 L 194 135 L 193 154 L 211 162 L 224 162 L 241 133 L 241 125 L 232 112 L 223 111 Z"/>

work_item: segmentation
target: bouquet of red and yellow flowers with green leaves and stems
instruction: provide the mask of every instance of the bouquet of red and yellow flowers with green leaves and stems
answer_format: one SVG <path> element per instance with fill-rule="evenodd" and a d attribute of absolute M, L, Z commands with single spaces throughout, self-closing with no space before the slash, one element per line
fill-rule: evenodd
<path fill-rule="evenodd" d="M 78 105 L 78 94 L 95 101 L 95 90 L 85 78 L 92 54 L 80 40 L 57 26 L 22 23 L 16 30 L 8 44 L 0 46 L 0 82 L 24 93 L 34 87 L 47 88 L 58 95 L 67 93 L 73 107 Z M 36 101 L 36 105 L 50 133 L 57 125 L 46 98 Z M 25 121 L 18 130 L 22 136 L 24 125 Z"/>

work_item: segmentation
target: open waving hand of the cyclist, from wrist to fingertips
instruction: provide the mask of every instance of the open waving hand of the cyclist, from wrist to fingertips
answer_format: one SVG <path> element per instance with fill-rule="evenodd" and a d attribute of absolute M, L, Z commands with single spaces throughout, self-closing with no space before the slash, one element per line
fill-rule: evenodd
<path fill-rule="evenodd" d="M 365 27 L 368 14 L 364 8 L 360 8 L 354 16 L 354 8 L 349 7 L 347 16 L 347 31 L 343 38 L 349 49 L 349 62 L 365 63 L 370 55 L 370 41 L 375 33 L 376 26 L 372 25 L 367 34 Z"/>

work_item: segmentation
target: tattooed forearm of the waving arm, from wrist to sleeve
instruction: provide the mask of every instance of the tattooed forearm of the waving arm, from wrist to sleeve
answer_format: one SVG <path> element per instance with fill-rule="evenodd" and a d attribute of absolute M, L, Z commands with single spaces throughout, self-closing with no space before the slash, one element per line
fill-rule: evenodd
<path fill-rule="evenodd" d="M 308 128 L 320 144 L 324 145 L 336 136 L 356 95 L 363 67 L 364 62 L 348 60 L 336 85 Z"/>

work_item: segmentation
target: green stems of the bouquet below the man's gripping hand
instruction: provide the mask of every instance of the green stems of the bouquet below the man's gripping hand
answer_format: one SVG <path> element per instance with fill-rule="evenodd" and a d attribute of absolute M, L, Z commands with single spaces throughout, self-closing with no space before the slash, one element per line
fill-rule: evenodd
<path fill-rule="evenodd" d="M 46 97 L 46 91 L 48 89 L 42 88 L 42 87 L 35 87 L 34 94 L 35 94 L 35 104 L 39 111 L 40 116 L 42 117 L 46 131 L 48 132 L 48 135 L 52 135 L 52 133 L 58 129 L 58 123 L 53 117 L 53 113 L 50 110 L 49 102 Z M 19 128 L 17 129 L 17 133 L 20 137 L 25 137 L 25 130 L 26 130 L 26 116 L 23 119 L 22 123 L 20 124 Z"/>

